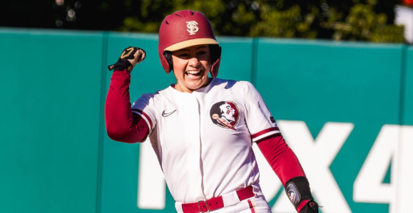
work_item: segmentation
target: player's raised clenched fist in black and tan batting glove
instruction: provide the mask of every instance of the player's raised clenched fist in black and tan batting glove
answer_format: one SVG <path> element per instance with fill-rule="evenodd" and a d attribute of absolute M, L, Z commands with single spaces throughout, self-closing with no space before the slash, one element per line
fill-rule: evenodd
<path fill-rule="evenodd" d="M 119 58 L 118 62 L 108 66 L 108 69 L 109 71 L 113 69 L 116 71 L 123 71 L 126 69 L 126 71 L 130 73 L 136 64 L 141 63 L 145 57 L 146 52 L 143 49 L 130 46 L 123 50 L 121 58 Z"/>

